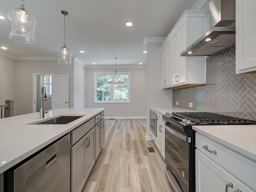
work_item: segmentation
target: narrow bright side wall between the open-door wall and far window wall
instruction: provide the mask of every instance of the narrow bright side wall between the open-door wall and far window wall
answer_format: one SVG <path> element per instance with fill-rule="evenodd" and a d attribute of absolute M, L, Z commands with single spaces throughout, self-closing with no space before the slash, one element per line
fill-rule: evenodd
<path fill-rule="evenodd" d="M 85 108 L 86 68 L 74 60 L 74 108 Z M 76 98 L 76 95 L 78 98 Z"/>

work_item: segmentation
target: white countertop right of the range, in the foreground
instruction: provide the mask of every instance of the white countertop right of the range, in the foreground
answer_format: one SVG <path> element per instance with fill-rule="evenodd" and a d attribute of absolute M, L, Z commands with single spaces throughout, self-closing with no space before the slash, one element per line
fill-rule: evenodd
<path fill-rule="evenodd" d="M 193 126 L 196 132 L 256 161 L 256 125 Z"/>

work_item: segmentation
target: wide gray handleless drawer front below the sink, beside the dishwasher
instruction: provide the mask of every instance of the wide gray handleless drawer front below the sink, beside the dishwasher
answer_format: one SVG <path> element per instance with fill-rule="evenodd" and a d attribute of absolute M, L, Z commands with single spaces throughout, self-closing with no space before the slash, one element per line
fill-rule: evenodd
<path fill-rule="evenodd" d="M 71 145 L 74 145 L 82 136 L 84 136 L 95 125 L 95 118 L 80 125 L 75 130 L 71 131 Z"/>

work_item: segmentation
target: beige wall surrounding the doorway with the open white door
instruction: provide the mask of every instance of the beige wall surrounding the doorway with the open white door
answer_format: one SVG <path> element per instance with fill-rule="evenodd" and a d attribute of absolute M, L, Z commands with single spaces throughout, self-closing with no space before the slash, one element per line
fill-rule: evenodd
<path fill-rule="evenodd" d="M 69 107 L 74 107 L 74 66 L 60 66 L 58 60 L 16 60 L 16 115 L 32 113 L 32 74 L 69 74 Z"/>

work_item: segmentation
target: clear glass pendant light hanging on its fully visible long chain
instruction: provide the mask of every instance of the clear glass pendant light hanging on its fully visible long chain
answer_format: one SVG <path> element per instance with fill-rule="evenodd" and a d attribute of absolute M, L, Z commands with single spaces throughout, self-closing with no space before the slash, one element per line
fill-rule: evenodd
<path fill-rule="evenodd" d="M 64 15 L 64 45 L 62 48 L 58 49 L 58 56 L 59 56 L 59 62 L 58 65 L 62 66 L 71 66 L 71 57 L 72 57 L 72 51 L 70 51 L 66 47 L 66 20 L 65 16 L 68 15 L 68 12 L 65 10 L 62 10 L 61 13 Z"/>

